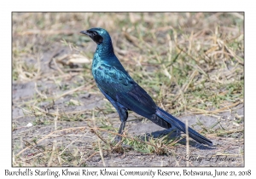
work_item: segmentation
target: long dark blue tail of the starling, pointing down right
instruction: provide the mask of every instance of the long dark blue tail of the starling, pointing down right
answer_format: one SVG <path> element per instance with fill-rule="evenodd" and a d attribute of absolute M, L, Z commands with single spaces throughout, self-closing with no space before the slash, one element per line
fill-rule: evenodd
<path fill-rule="evenodd" d="M 186 133 L 186 125 L 183 124 L 180 120 L 177 118 L 173 117 L 170 113 L 167 113 L 160 107 L 156 110 L 156 115 L 159 116 L 160 118 L 163 118 L 167 123 L 174 125 L 177 127 L 178 130 L 182 130 L 184 133 Z M 206 137 L 201 136 L 198 132 L 195 130 L 192 130 L 191 128 L 189 130 L 189 136 L 194 139 L 195 141 L 198 141 L 203 144 L 207 144 L 208 146 L 212 146 L 212 141 L 208 140 Z"/>

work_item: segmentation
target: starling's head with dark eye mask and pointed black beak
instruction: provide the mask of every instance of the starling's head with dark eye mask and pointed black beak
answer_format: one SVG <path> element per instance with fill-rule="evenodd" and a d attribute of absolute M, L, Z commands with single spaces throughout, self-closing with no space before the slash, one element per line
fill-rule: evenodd
<path fill-rule="evenodd" d="M 97 44 L 101 44 L 110 39 L 108 32 L 102 28 L 91 28 L 89 30 L 80 31 L 87 36 L 89 36 Z"/>

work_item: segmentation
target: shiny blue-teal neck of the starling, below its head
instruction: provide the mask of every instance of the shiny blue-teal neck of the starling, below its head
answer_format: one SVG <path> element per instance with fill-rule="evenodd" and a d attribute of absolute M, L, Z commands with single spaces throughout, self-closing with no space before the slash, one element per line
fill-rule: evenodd
<path fill-rule="evenodd" d="M 108 57 L 113 55 L 113 45 L 111 39 L 97 45 L 96 54 L 100 57 Z"/>

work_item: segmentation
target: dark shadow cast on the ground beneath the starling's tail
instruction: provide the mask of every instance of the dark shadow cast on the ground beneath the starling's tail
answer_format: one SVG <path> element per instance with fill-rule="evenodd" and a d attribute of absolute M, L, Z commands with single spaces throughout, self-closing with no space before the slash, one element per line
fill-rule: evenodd
<path fill-rule="evenodd" d="M 143 136 L 138 136 L 138 137 L 142 141 L 148 141 L 148 139 L 150 137 L 153 137 L 154 139 L 156 139 L 156 138 L 160 138 L 160 137 L 163 137 L 163 136 L 166 136 L 166 139 L 168 141 L 171 141 L 171 140 L 174 141 L 174 140 L 177 140 L 177 138 L 181 137 L 181 132 L 180 132 L 180 130 L 171 128 L 171 129 L 168 129 L 168 130 L 157 130 L 157 131 L 154 131 L 152 133 L 146 133 Z M 183 139 L 177 141 L 177 143 L 179 143 L 181 145 L 186 145 L 186 138 L 183 138 Z M 196 147 L 198 149 L 201 149 L 201 150 L 216 149 L 216 147 L 208 147 L 207 145 L 200 144 L 196 141 L 189 141 L 189 145 L 192 146 L 192 147 Z"/>

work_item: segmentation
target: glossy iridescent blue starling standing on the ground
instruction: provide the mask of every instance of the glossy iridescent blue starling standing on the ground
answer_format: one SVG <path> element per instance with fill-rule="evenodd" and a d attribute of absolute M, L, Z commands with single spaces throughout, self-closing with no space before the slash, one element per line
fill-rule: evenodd
<path fill-rule="evenodd" d="M 91 28 L 81 31 L 97 43 L 92 62 L 92 75 L 102 94 L 110 101 L 119 113 L 121 121 L 119 134 L 122 134 L 128 118 L 128 111 L 133 111 L 154 124 L 169 129 L 175 126 L 186 133 L 183 122 L 156 106 L 148 93 L 139 86 L 125 71 L 113 52 L 113 45 L 108 32 L 102 28 Z M 189 128 L 189 136 L 195 141 L 212 146 L 212 141 Z M 118 141 L 120 137 L 117 136 Z"/>

